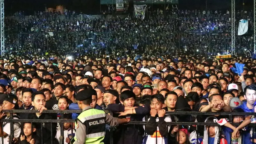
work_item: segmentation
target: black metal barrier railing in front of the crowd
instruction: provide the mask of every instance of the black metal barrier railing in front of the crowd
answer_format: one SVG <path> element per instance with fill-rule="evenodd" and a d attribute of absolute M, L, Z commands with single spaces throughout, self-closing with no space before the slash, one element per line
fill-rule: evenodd
<path fill-rule="evenodd" d="M 3 122 L 5 123 L 10 123 L 10 135 L 9 137 L 9 144 L 12 144 L 12 139 L 14 138 L 14 123 L 23 123 L 23 122 L 29 122 L 29 123 L 41 123 L 41 143 L 43 144 L 43 132 L 42 132 L 42 127 L 43 127 L 43 123 L 51 123 L 51 127 L 52 127 L 52 123 L 60 123 L 60 144 L 64 143 L 64 127 L 63 127 L 63 123 L 74 123 L 75 120 L 68 120 L 65 119 L 64 120 L 64 113 L 81 113 L 82 110 L 44 110 L 43 113 L 60 113 L 60 119 L 13 119 L 13 113 L 38 113 L 37 110 L 2 110 L 2 112 L 4 113 L 10 113 L 10 118 L 9 119 L 0 119 L 1 122 L 1 128 L 3 130 Z M 110 113 L 110 115 L 113 115 L 110 111 L 105 111 L 106 113 Z M 217 115 L 221 115 L 221 116 L 229 116 L 229 123 L 231 123 L 233 126 L 238 126 L 239 123 L 232 123 L 232 116 L 252 116 L 252 115 L 256 115 L 256 113 L 236 113 L 236 112 L 169 112 L 166 111 L 167 115 L 209 115 L 209 116 L 217 116 Z M 145 120 L 147 120 L 147 116 L 145 118 Z M 130 121 L 127 124 L 134 124 L 134 125 L 146 125 L 148 122 L 147 121 Z M 219 128 L 221 127 L 219 124 L 217 123 L 205 123 L 205 122 L 166 122 L 166 125 L 187 125 L 187 126 L 191 126 L 191 125 L 196 125 L 196 126 L 205 126 L 205 125 L 209 125 L 209 126 L 218 126 Z M 256 126 L 256 123 L 251 123 L 249 124 L 249 126 Z M 71 128 L 73 129 L 73 124 L 71 124 Z M 53 137 L 52 137 L 52 129 L 51 129 L 51 143 L 53 143 Z M 252 129 L 252 135 L 254 134 L 255 128 Z M 23 132 L 23 129 L 21 127 L 21 132 Z M 110 144 L 113 144 L 113 129 L 110 128 Z M 146 135 L 146 132 L 144 132 L 144 134 Z M 73 135 L 73 131 L 72 131 L 72 135 Z M 197 132 L 196 132 L 197 135 Z M 209 134 L 208 134 L 209 135 Z M 2 131 L 2 136 L 3 136 L 3 131 Z M 168 137 L 168 136 L 167 136 Z M 252 136 L 253 137 L 253 136 Z M 175 137 L 176 140 L 176 137 Z M 230 137 L 231 140 L 231 137 Z M 4 143 L 4 139 L 2 137 L 2 141 L 0 141 L 0 143 Z M 4 143 L 5 144 L 5 143 Z"/>

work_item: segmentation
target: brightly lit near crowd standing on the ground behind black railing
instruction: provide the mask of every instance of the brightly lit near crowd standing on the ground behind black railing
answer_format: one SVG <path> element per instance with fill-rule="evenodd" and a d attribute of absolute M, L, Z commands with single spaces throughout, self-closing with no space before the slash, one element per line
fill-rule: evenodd
<path fill-rule="evenodd" d="M 0 111 L 36 109 L 38 113 L 13 113 L 13 118 L 60 119 L 60 113 L 49 114 L 44 110 L 84 110 L 81 105 L 87 104 L 89 108 L 112 112 L 123 123 L 147 122 L 131 125 L 119 121 L 118 125 L 114 120 L 106 121 L 115 126 L 114 144 L 248 144 L 255 135 L 252 127 L 247 126 L 255 122 L 255 66 L 254 57 L 217 60 L 184 53 L 121 58 L 104 54 L 66 58 L 52 53 L 28 58 L 12 55 L 0 59 Z M 82 99 L 83 96 L 87 99 Z M 223 115 L 171 114 L 174 111 L 233 111 L 252 112 L 252 115 L 229 119 Z M 75 120 L 78 115 L 64 114 L 64 119 Z M 2 113 L 0 117 L 10 119 L 10 113 Z M 207 122 L 220 126 L 166 125 L 166 122 Z M 95 122 L 98 123 L 105 121 Z M 83 130 L 81 124 L 75 127 L 64 123 L 64 143 L 83 143 L 81 135 L 90 131 Z M 109 125 L 106 130 L 104 127 L 104 143 L 110 140 Z M 5 144 L 11 134 L 10 123 L 4 122 L 2 126 L 0 136 Z M 15 143 L 47 144 L 61 140 L 59 123 L 43 123 L 43 127 L 41 123 L 14 123 L 13 128 Z M 90 143 L 89 135 L 84 134 L 82 138 Z"/>

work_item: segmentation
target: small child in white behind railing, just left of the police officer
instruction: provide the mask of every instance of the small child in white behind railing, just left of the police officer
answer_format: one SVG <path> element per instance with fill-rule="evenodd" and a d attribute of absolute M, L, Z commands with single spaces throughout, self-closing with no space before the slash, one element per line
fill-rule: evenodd
<path fill-rule="evenodd" d="M 70 114 L 64 114 L 64 120 L 72 119 Z M 64 128 L 64 144 L 69 144 L 76 135 L 76 130 L 72 128 L 72 123 L 63 123 Z M 56 138 L 60 142 L 60 129 L 56 133 Z"/>

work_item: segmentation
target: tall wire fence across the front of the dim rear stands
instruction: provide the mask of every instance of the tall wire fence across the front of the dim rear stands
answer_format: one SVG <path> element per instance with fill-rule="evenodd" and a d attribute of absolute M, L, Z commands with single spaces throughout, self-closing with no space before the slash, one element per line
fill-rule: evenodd
<path fill-rule="evenodd" d="M 253 34 L 236 36 L 236 51 L 253 51 Z M 231 51 L 231 33 L 93 33 L 45 32 L 5 34 L 5 48 L 10 51 L 125 49 L 133 47 L 141 52 L 162 49 L 164 52 L 189 51 L 195 53 Z"/>

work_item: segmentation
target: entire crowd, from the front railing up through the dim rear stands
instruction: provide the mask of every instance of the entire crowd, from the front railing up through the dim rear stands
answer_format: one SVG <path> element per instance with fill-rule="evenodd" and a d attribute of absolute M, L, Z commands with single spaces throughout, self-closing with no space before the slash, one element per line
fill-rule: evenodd
<path fill-rule="evenodd" d="M 247 19 L 253 28 L 252 11 L 236 13 L 236 20 Z M 101 113 L 105 119 L 88 123 L 79 118 L 83 113 L 63 114 L 65 120 L 76 120 L 63 124 L 65 144 L 93 140 L 99 144 L 110 140 L 114 144 L 256 142 L 255 130 L 248 126 L 256 121 L 256 55 L 244 51 L 219 60 L 209 54 L 230 50 L 229 11 L 151 12 L 148 8 L 145 20 L 129 16 L 92 20 L 70 11 L 60 20 L 58 15 L 35 12 L 25 20 L 24 12 L 17 12 L 18 21 L 6 19 L 7 29 L 19 34 L 5 33 L 8 54 L 0 58 L 1 119 L 61 119 L 60 113 L 44 110 L 91 109 L 113 114 Z M 237 37 L 236 42 L 239 49 L 252 49 L 250 35 Z M 2 112 L 12 109 L 36 109 L 38 113 L 11 116 Z M 218 114 L 172 114 L 175 111 L 252 115 L 230 119 Z M 129 121 L 146 125 L 125 124 Z M 15 122 L 12 142 L 58 144 L 60 124 Z M 91 125 L 94 129 L 85 129 Z M 100 142 L 89 134 L 92 131 L 98 132 Z M 7 144 L 10 135 L 10 123 L 2 123 L 0 143 Z"/>

